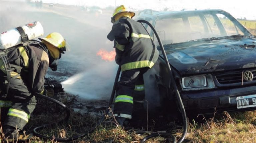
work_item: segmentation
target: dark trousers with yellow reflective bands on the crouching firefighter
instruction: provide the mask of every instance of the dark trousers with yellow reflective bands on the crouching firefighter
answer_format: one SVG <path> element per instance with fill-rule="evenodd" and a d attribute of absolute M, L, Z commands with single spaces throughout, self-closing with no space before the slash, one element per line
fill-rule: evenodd
<path fill-rule="evenodd" d="M 21 78 L 10 82 L 6 97 L 0 95 L 1 123 L 23 130 L 36 106 L 33 96 Z"/>

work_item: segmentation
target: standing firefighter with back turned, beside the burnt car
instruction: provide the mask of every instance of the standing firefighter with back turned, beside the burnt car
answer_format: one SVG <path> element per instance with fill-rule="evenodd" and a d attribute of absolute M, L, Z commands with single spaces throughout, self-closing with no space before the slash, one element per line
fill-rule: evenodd
<path fill-rule="evenodd" d="M 115 60 L 122 71 L 113 111 L 120 126 L 132 118 L 133 104 L 143 102 L 143 73 L 153 67 L 159 56 L 147 30 L 131 19 L 134 16 L 135 13 L 124 5 L 118 6 L 111 18 L 112 30 L 107 35 L 110 41 L 114 41 Z"/>

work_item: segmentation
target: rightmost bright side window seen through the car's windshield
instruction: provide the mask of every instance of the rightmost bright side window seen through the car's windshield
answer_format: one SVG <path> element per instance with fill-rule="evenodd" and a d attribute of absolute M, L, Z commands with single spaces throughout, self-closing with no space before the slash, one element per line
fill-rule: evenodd
<path fill-rule="evenodd" d="M 237 35 L 237 34 L 243 35 L 243 33 L 226 16 L 224 16 L 223 14 L 216 14 L 216 15 L 220 19 L 220 21 L 221 21 L 222 25 L 224 26 L 228 36 Z"/>

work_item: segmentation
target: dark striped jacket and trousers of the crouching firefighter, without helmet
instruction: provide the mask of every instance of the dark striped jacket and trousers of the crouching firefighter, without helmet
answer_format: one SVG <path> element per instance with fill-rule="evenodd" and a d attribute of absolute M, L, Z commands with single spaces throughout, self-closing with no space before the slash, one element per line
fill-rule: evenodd
<path fill-rule="evenodd" d="M 1 108 L 5 112 L 1 114 L 4 126 L 22 130 L 36 106 L 33 93 L 46 94 L 44 77 L 49 67 L 47 53 L 48 50 L 41 43 L 31 43 L 7 49 L 4 58 L 0 59 L 0 107 L 7 107 Z"/>

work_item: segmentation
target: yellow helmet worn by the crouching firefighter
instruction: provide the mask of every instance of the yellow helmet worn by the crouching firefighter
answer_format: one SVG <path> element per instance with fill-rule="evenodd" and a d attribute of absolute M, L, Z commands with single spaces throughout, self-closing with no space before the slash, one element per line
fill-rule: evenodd
<path fill-rule="evenodd" d="M 63 51 L 69 51 L 70 48 L 62 35 L 57 32 L 50 33 L 45 38 L 42 38 L 42 42 L 58 48 L 61 53 L 64 53 Z"/>

